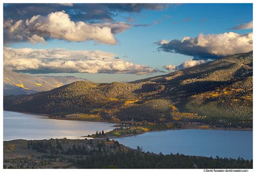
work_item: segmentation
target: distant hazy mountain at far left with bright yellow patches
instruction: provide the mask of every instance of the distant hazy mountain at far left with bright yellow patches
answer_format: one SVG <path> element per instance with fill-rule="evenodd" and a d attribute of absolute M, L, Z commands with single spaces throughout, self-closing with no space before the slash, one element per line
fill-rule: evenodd
<path fill-rule="evenodd" d="M 35 76 L 4 70 L 3 80 L 4 95 L 19 95 L 49 91 L 53 88 L 85 79 L 72 76 Z"/>

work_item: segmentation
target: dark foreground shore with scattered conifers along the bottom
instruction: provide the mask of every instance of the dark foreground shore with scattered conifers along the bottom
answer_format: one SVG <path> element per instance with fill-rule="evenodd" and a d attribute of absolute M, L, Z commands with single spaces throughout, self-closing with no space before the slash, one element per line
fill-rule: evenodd
<path fill-rule="evenodd" d="M 13 140 L 4 142 L 4 168 L 252 168 L 242 158 L 154 154 L 109 139 Z"/>

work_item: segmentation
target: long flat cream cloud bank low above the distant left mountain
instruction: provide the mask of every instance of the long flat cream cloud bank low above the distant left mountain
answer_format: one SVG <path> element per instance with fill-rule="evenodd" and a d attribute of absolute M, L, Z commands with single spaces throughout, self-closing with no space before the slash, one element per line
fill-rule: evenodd
<path fill-rule="evenodd" d="M 134 73 L 158 72 L 149 66 L 114 58 L 103 51 L 66 49 L 12 49 L 4 47 L 4 68 L 28 73 Z"/>

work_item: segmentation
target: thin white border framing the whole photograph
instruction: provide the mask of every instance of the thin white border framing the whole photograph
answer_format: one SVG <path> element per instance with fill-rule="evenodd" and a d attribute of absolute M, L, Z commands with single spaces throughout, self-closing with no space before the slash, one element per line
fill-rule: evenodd
<path fill-rule="evenodd" d="M 0 28 L 1 28 L 1 70 L 0 70 L 0 78 L 1 78 L 1 115 L 0 115 L 0 121 L 1 121 L 1 128 L 2 128 L 2 132 L 0 134 L 1 136 L 1 142 L 0 142 L 0 146 L 1 146 L 1 156 L 0 156 L 0 170 L 4 170 L 4 171 L 35 171 L 35 169 L 3 169 L 3 3 L 253 3 L 252 0 L 243 0 L 243 1 L 238 1 L 238 0 L 211 0 L 211 1 L 203 1 L 203 0 L 194 0 L 194 1 L 188 1 L 188 0 L 173 0 L 173 1 L 167 1 L 167 0 L 159 0 L 159 1 L 153 1 L 153 0 L 126 0 L 126 1 L 117 1 L 117 0 L 91 0 L 91 1 L 70 1 L 70 0 L 62 0 L 62 1 L 56 1 L 56 0 L 37 0 L 37 1 L 32 1 L 32 0 L 23 0 L 23 1 L 14 1 L 14 0 L 3 0 L 1 2 L 1 7 L 0 7 L 0 11 L 1 11 L 1 23 L 0 23 Z M 254 3 L 253 3 L 253 18 L 255 18 L 255 8 L 254 8 Z M 253 27 L 255 28 L 255 23 L 253 24 Z M 253 35 L 253 39 L 255 40 L 256 36 Z M 253 50 L 255 50 L 255 46 L 253 46 Z M 254 51 L 255 52 L 255 51 Z M 254 57 L 253 53 L 253 68 L 255 67 L 254 65 L 254 61 L 255 61 L 255 57 Z M 256 90 L 256 86 L 255 86 L 255 78 L 253 77 L 253 90 Z M 254 94 L 253 94 L 253 98 Z M 253 112 L 256 112 L 256 102 L 253 101 Z M 253 120 L 253 130 L 255 128 L 256 125 L 256 120 Z M 255 147 L 255 133 L 253 132 L 253 147 Z M 234 150 L 235 151 L 235 150 Z M 256 156 L 256 150 L 253 148 L 253 157 Z M 253 161 L 253 169 L 256 169 L 256 162 L 255 159 Z M 253 171 L 253 169 L 249 169 L 249 171 Z M 39 171 L 42 170 L 46 170 L 46 171 L 131 171 L 131 169 L 37 169 Z M 133 171 L 155 171 L 155 170 L 159 170 L 159 171 L 204 171 L 203 169 L 132 169 Z"/>

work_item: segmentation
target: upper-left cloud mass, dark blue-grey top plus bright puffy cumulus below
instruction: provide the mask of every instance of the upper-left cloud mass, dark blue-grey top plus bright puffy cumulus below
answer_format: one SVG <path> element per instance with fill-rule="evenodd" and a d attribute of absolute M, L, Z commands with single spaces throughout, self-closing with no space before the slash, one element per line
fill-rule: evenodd
<path fill-rule="evenodd" d="M 121 12 L 162 10 L 166 4 L 4 4 L 4 44 L 63 39 L 116 44 L 114 38 L 131 25 L 113 19 Z M 69 27 L 66 27 L 69 25 Z"/>

